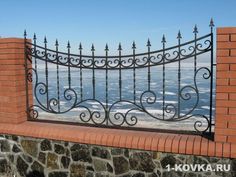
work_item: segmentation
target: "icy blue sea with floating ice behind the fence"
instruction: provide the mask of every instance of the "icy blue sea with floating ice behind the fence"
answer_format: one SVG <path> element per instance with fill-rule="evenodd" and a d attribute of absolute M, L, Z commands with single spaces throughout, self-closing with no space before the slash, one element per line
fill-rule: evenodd
<path fill-rule="evenodd" d="M 83 97 L 81 98 L 80 69 L 71 67 L 71 89 L 74 90 L 77 96 L 75 96 L 74 92 L 68 91 L 66 93 L 71 96 L 71 100 L 67 100 L 65 91 L 69 88 L 68 67 L 59 66 L 59 85 L 56 67 L 56 64 L 48 65 L 48 96 L 49 100 L 57 99 L 59 92 L 60 112 L 58 105 L 54 105 L 53 101 L 49 105 L 49 110 L 51 111 L 40 109 L 40 105 L 41 107 L 42 105 L 47 107 L 47 103 L 46 94 L 39 93 L 40 88 L 45 88 L 39 85 L 34 92 L 34 105 L 38 105 L 35 106 L 38 111 L 37 119 L 84 123 L 85 125 L 114 124 L 127 127 L 168 130 L 197 129 L 200 131 L 208 127 L 208 121 L 212 120 L 212 123 L 214 123 L 215 68 L 213 68 L 212 119 L 210 119 L 211 79 L 208 77 L 209 72 L 207 70 L 207 68 L 210 69 L 210 63 L 204 60 L 203 62 L 197 62 L 196 70 L 198 72 L 196 75 L 194 62 L 181 62 L 180 82 L 178 82 L 178 63 L 166 64 L 164 69 L 164 92 L 163 65 L 150 68 L 151 92 L 148 92 L 148 68 L 136 69 L 135 104 L 133 70 L 127 69 L 121 72 L 121 101 L 119 70 L 109 70 L 107 77 L 109 121 L 104 121 L 106 117 L 104 113 L 104 107 L 106 106 L 106 71 L 95 70 L 95 95 L 93 95 L 92 70 L 82 69 Z M 37 75 L 38 83 L 46 83 L 44 61 L 38 61 Z M 35 74 L 33 80 L 35 87 Z M 179 84 L 180 89 L 182 89 L 180 93 L 178 93 Z M 93 100 L 93 96 L 95 100 Z M 163 98 L 165 100 L 164 114 Z M 77 106 L 73 106 L 75 101 L 78 103 Z M 71 107 L 74 108 L 71 109 Z M 89 111 L 90 113 L 94 112 L 92 119 Z"/>

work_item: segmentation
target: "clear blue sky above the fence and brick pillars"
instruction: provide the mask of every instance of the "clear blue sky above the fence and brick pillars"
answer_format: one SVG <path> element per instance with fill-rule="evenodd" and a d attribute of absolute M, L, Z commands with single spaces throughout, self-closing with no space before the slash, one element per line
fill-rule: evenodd
<path fill-rule="evenodd" d="M 70 40 L 72 50 L 82 42 L 86 53 L 92 43 L 102 53 L 106 42 L 110 51 L 119 42 L 129 51 L 133 40 L 143 51 L 147 38 L 158 49 L 163 34 L 175 44 L 179 29 L 188 41 L 195 24 L 199 35 L 209 32 L 211 17 L 216 27 L 236 26 L 235 0 L 2 0 L 0 6 L 1 37 L 22 37 L 26 29 L 39 42 L 47 35 L 51 47 L 56 38 L 61 48 Z"/>

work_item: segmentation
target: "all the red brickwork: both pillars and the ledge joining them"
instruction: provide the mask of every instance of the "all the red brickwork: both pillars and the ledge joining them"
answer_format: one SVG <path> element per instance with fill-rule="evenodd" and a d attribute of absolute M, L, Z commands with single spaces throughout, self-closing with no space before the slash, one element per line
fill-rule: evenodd
<path fill-rule="evenodd" d="M 24 39 L 0 38 L 0 133 L 183 154 L 236 157 L 236 28 L 217 29 L 215 141 L 194 135 L 28 122 Z M 30 102 L 32 86 L 29 85 Z M 21 123 L 21 124 L 20 124 Z M 173 145 L 173 146 L 172 146 Z"/>

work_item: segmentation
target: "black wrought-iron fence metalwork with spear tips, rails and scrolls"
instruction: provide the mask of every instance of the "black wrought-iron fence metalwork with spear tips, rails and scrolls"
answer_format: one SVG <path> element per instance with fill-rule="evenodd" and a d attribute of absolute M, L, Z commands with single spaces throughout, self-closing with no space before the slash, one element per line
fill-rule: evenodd
<path fill-rule="evenodd" d="M 109 127 L 109 128 L 125 128 L 125 129 L 134 129 L 134 130 L 148 130 L 148 131 L 168 131 L 168 130 L 162 130 L 162 129 L 147 129 L 147 128 L 137 128 L 134 127 L 136 123 L 138 122 L 138 118 L 136 116 L 129 116 L 129 113 L 133 110 L 138 110 L 140 112 L 146 113 L 148 116 L 157 119 L 159 121 L 181 121 L 189 119 L 193 116 L 201 117 L 204 121 L 207 122 L 207 127 L 204 130 L 199 130 L 198 128 L 202 126 L 202 121 L 197 120 L 194 123 L 194 129 L 196 131 L 188 132 L 188 133 L 200 133 L 200 134 L 211 134 L 212 133 L 212 126 L 214 125 L 212 123 L 212 92 L 213 92 L 213 21 L 210 22 L 210 33 L 207 35 L 204 35 L 202 37 L 198 37 L 198 29 L 197 26 L 194 27 L 194 39 L 185 43 L 181 43 L 181 33 L 179 32 L 177 35 L 178 44 L 173 47 L 166 48 L 166 39 L 163 35 L 162 38 L 162 49 L 151 51 L 151 43 L 148 40 L 147 42 L 147 52 L 145 53 L 136 53 L 136 44 L 133 42 L 132 44 L 132 54 L 131 55 L 122 55 L 122 47 L 121 44 L 118 46 L 118 55 L 111 56 L 109 55 L 109 48 L 108 45 L 105 46 L 105 55 L 104 56 L 96 56 L 95 55 L 95 48 L 92 45 L 91 47 L 91 55 L 84 55 L 82 53 L 83 48 L 82 45 L 79 45 L 79 54 L 72 54 L 70 52 L 70 43 L 68 42 L 67 45 L 67 52 L 60 52 L 58 51 L 58 41 L 56 40 L 55 43 L 55 50 L 48 49 L 47 47 L 47 39 L 45 37 L 44 39 L 44 46 L 37 45 L 36 35 L 33 37 L 33 42 L 29 42 L 27 40 L 26 32 L 24 33 L 25 38 L 25 76 L 26 76 L 26 95 L 29 94 L 29 83 L 32 82 L 33 77 L 35 77 L 35 85 L 33 86 L 33 93 L 34 97 L 37 100 L 37 103 L 33 103 L 33 105 L 29 104 L 29 97 L 27 96 L 27 116 L 28 120 L 30 121 L 43 121 L 38 118 L 38 111 L 35 109 L 40 108 L 41 110 L 52 113 L 52 114 L 63 114 L 66 112 L 69 112 L 70 110 L 77 108 L 77 107 L 83 107 L 86 109 L 87 113 L 80 112 L 79 118 L 80 121 L 83 123 L 78 123 L 79 125 L 86 125 L 86 126 L 96 126 L 96 127 Z M 203 41 L 203 43 L 200 43 L 200 41 Z M 185 46 L 188 47 L 188 51 L 184 48 Z M 200 67 L 197 68 L 197 56 L 210 52 L 210 68 L 208 67 Z M 32 58 L 35 59 L 33 67 L 29 67 L 29 62 L 31 62 L 31 65 L 33 64 Z M 181 61 L 193 58 L 194 62 L 194 85 L 187 85 L 181 87 Z M 45 62 L 45 76 L 46 81 L 45 83 L 38 81 L 38 73 L 37 73 L 37 60 L 41 60 Z M 169 63 L 176 62 L 178 63 L 178 104 L 177 106 L 174 104 L 167 104 L 165 103 L 165 66 Z M 48 63 L 53 63 L 57 67 L 57 97 L 56 98 L 50 98 L 49 92 L 48 92 Z M 59 93 L 59 66 L 62 65 L 64 67 L 68 68 L 68 88 L 64 91 L 63 95 L 64 98 L 67 101 L 73 101 L 73 104 L 71 107 L 67 110 L 62 110 L 60 105 L 60 94 Z M 151 71 L 150 68 L 152 66 L 161 65 L 163 72 L 162 72 L 162 116 L 155 117 L 151 113 L 148 112 L 148 110 L 143 105 L 143 97 L 146 94 L 149 94 L 152 96 L 146 98 L 146 103 L 153 104 L 156 101 L 156 94 L 150 89 L 150 83 L 151 83 Z M 73 88 L 71 87 L 71 68 L 78 68 L 80 73 L 80 93 L 76 93 Z M 136 98 L 136 70 L 139 68 L 147 68 L 147 90 L 144 90 L 141 94 L 141 97 L 139 99 L 139 104 L 137 104 L 137 98 Z M 90 69 L 92 70 L 92 97 L 90 99 L 84 99 L 83 98 L 83 69 Z M 103 104 L 99 100 L 96 99 L 96 77 L 95 77 L 95 70 L 105 70 L 106 72 L 106 78 L 105 78 L 105 93 L 106 93 L 106 103 Z M 111 106 L 108 105 L 108 71 L 110 70 L 118 70 L 119 71 L 119 100 L 115 103 L 113 103 Z M 122 71 L 123 70 L 131 70 L 133 73 L 133 101 L 126 100 L 122 96 Z M 198 87 L 196 83 L 196 77 L 197 74 L 204 70 L 204 74 L 202 75 L 203 79 L 210 79 L 210 112 L 209 117 L 206 117 L 205 115 L 191 115 L 193 110 L 198 105 L 198 99 L 199 99 L 199 92 Z M 40 88 L 40 89 L 39 89 Z M 185 115 L 181 115 L 180 112 L 180 99 L 182 100 L 189 100 L 191 99 L 190 93 L 183 94 L 183 91 L 186 88 L 191 88 L 194 90 L 195 94 L 197 95 L 197 101 L 196 104 L 189 110 L 189 112 Z M 39 91 L 37 91 L 39 89 Z M 46 96 L 46 104 L 43 104 L 38 99 L 38 94 L 45 95 Z M 73 99 L 74 98 L 74 99 Z M 102 117 L 101 112 L 94 111 L 92 112 L 89 108 L 83 106 L 81 103 L 87 102 L 87 101 L 96 101 L 101 105 L 103 108 L 103 112 L 105 113 Z M 116 124 L 116 122 L 112 121 L 110 111 L 112 107 L 119 103 L 119 102 L 127 102 L 132 105 L 134 105 L 134 108 L 124 113 L 116 113 L 113 116 L 114 120 L 122 120 L 119 124 Z M 175 111 L 173 116 L 166 118 L 166 114 L 168 114 L 170 111 Z M 96 119 L 103 119 L 102 122 L 96 122 Z M 46 122 L 55 122 L 50 120 L 44 120 Z M 59 123 L 68 123 L 68 122 L 61 122 L 57 121 Z M 75 123 L 72 123 L 75 124 Z M 186 131 L 178 131 L 179 133 L 185 133 Z"/>

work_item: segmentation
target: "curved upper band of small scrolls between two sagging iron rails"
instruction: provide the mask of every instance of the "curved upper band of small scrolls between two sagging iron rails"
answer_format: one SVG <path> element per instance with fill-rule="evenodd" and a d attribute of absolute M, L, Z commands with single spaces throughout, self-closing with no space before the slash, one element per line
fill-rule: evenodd
<path fill-rule="evenodd" d="M 54 64 L 86 69 L 133 69 L 163 65 L 206 53 L 212 48 L 212 35 L 212 33 L 209 33 L 198 38 L 195 35 L 195 39 L 184 43 L 181 43 L 181 37 L 179 37 L 178 45 L 167 48 L 163 37 L 163 48 L 160 50 L 150 51 L 151 44 L 148 41 L 148 52 L 136 54 L 136 47 L 133 44 L 133 54 L 122 55 L 121 47 L 119 47 L 119 55 L 112 56 L 108 55 L 108 48 L 106 48 L 106 55 L 104 56 L 95 56 L 94 48 L 91 50 L 92 55 L 83 55 L 82 47 L 79 48 L 79 54 L 72 54 L 70 53 L 69 43 L 67 53 L 58 51 L 58 43 L 56 43 L 56 50 L 48 49 L 47 42 L 42 47 L 37 45 L 36 42 L 30 43 L 26 40 L 25 45 L 27 55 Z"/>

